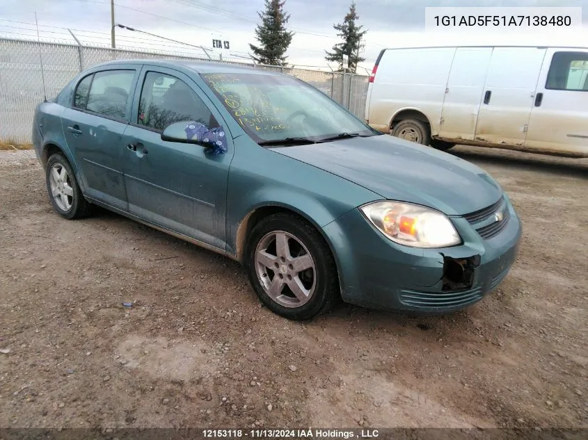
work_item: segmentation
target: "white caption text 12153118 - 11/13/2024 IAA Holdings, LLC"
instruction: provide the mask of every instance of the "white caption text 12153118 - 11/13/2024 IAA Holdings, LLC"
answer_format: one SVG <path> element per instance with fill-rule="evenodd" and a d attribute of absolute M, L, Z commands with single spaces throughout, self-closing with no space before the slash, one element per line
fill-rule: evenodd
<path fill-rule="evenodd" d="M 251 430 L 202 430 L 207 439 L 238 439 L 243 437 L 257 439 L 375 439 L 378 430 L 334 430 L 334 429 L 251 429 Z"/>

